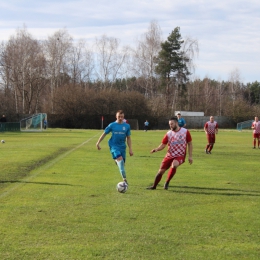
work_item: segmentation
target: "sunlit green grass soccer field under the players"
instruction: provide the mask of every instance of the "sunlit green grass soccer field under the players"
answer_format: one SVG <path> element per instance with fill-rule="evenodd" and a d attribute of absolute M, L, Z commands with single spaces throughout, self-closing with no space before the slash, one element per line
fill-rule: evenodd
<path fill-rule="evenodd" d="M 132 131 L 129 189 L 101 130 L 1 133 L 1 259 L 260 259 L 260 149 L 252 132 L 222 130 L 212 154 L 190 130 L 193 164 L 146 190 L 166 131 Z"/>

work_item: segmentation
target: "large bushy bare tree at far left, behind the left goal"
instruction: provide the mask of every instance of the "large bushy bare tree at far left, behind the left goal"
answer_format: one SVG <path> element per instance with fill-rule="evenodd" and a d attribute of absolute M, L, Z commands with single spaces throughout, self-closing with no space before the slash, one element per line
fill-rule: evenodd
<path fill-rule="evenodd" d="M 26 28 L 18 29 L 1 56 L 1 75 L 11 88 L 16 113 L 35 113 L 45 84 L 45 59 L 39 42 Z"/>

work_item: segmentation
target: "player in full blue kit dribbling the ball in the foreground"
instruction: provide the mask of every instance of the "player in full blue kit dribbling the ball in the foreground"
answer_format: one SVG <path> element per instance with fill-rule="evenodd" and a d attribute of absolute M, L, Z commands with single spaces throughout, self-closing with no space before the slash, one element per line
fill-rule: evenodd
<path fill-rule="evenodd" d="M 108 141 L 110 153 L 119 168 L 123 181 L 127 183 L 125 172 L 126 141 L 129 148 L 130 156 L 133 155 L 133 151 L 130 125 L 124 122 L 124 112 L 122 110 L 117 111 L 116 121 L 110 123 L 105 128 L 104 133 L 99 137 L 96 143 L 96 147 L 98 150 L 101 149 L 99 144 L 109 133 L 112 133 L 112 136 Z"/>

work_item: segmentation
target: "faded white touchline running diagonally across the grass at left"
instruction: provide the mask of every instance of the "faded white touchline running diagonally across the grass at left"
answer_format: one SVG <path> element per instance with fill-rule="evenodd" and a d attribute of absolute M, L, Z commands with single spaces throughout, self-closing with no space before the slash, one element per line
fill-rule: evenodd
<path fill-rule="evenodd" d="M 72 148 L 71 150 L 67 151 L 64 154 L 61 154 L 59 156 L 57 156 L 56 158 L 54 158 L 53 160 L 47 162 L 46 164 L 42 165 L 39 167 L 39 169 L 32 175 L 30 175 L 27 178 L 24 178 L 22 182 L 18 182 L 15 183 L 14 185 L 12 185 L 8 190 L 4 191 L 2 194 L 0 194 L 0 199 L 8 196 L 9 194 L 11 194 L 14 190 L 18 189 L 20 186 L 25 185 L 26 182 L 34 179 L 35 177 L 37 177 L 43 170 L 46 170 L 48 168 L 50 168 L 52 165 L 54 165 L 55 163 L 59 162 L 61 159 L 65 158 L 66 156 L 68 156 L 69 154 L 71 154 L 72 152 L 74 152 L 75 150 L 79 149 L 81 146 L 83 146 L 84 144 L 88 143 L 89 141 L 91 141 L 93 138 L 95 138 L 97 135 L 99 135 L 100 133 L 92 136 L 91 138 L 89 138 L 88 140 L 86 140 L 85 142 L 81 143 L 80 145 Z"/>

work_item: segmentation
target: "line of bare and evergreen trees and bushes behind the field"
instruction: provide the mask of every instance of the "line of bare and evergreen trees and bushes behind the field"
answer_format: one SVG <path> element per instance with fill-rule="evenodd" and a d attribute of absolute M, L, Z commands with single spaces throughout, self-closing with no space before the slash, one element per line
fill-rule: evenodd
<path fill-rule="evenodd" d="M 46 40 L 27 28 L 0 45 L 0 111 L 75 118 L 114 115 L 170 116 L 176 110 L 241 120 L 260 111 L 260 83 L 243 84 L 234 70 L 228 81 L 194 78 L 196 39 L 176 27 L 166 40 L 156 21 L 135 47 L 102 35 L 90 45 L 66 29 Z"/>

